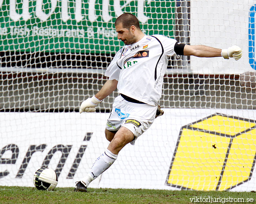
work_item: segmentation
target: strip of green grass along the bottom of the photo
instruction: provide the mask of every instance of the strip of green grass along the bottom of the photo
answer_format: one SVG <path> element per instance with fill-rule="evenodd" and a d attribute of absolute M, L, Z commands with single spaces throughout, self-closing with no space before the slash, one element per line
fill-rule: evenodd
<path fill-rule="evenodd" d="M 93 189 L 88 192 L 74 192 L 74 188 L 56 188 L 54 191 L 42 191 L 28 187 L 0 186 L 0 203 L 2 204 L 192 204 L 207 202 L 191 202 L 196 197 L 212 199 L 233 198 L 253 199 L 255 192 L 217 192 L 192 190 L 147 190 L 147 189 Z M 209 203 L 209 202 L 208 202 Z M 214 203 L 214 202 L 212 202 Z M 218 202 L 221 203 L 221 202 Z M 230 203 L 226 202 L 225 203 Z M 237 202 L 233 202 L 237 203 Z M 240 202 L 242 203 L 242 202 Z M 244 202 L 248 203 L 248 202 Z"/>

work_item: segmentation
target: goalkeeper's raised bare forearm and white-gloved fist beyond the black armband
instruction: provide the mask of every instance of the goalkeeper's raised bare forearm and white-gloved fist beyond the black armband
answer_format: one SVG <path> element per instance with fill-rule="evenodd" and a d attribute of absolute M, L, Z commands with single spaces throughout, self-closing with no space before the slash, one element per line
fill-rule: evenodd
<path fill-rule="evenodd" d="M 229 59 L 233 57 L 235 60 L 239 60 L 242 57 L 242 50 L 238 46 L 234 45 L 227 49 L 212 48 L 205 45 L 185 45 L 184 55 L 196 56 L 196 57 L 224 57 Z"/>

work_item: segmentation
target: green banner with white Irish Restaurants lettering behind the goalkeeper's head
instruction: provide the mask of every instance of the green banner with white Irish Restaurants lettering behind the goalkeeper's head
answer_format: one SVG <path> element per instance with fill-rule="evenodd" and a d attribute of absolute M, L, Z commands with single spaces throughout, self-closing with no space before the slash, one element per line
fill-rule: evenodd
<path fill-rule="evenodd" d="M 114 53 L 114 21 L 136 15 L 147 35 L 173 37 L 174 0 L 0 0 L 0 51 Z"/>

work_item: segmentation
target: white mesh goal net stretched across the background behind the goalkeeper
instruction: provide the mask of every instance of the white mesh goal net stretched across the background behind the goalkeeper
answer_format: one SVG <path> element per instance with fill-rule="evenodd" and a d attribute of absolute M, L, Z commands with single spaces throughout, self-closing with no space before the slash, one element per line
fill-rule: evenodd
<path fill-rule="evenodd" d="M 59 187 L 74 186 L 108 147 L 117 90 L 96 113 L 79 105 L 106 82 L 124 46 L 114 21 L 130 12 L 146 35 L 238 45 L 243 57 L 171 57 L 165 114 L 90 187 L 255 190 L 255 11 L 253 0 L 0 1 L 0 185 L 33 186 L 50 167 Z"/>

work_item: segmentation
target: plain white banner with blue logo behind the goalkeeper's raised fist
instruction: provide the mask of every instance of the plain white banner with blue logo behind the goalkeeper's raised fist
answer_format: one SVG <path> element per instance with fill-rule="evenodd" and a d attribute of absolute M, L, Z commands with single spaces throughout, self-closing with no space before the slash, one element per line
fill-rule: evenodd
<path fill-rule="evenodd" d="M 192 0 L 191 45 L 220 49 L 238 45 L 240 60 L 191 56 L 193 73 L 241 74 L 253 71 L 255 63 L 255 0 Z"/>

